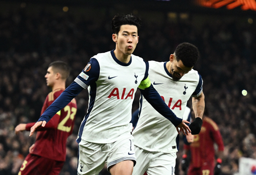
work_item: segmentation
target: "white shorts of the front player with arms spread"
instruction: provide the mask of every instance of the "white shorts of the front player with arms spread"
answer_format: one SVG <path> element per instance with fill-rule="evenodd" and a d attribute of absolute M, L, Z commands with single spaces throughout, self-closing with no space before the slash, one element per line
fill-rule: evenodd
<path fill-rule="evenodd" d="M 105 162 L 108 170 L 110 166 L 124 160 L 132 160 L 135 166 L 133 140 L 132 135 L 106 144 L 86 142 L 82 139 L 78 144 L 78 175 L 98 175 Z"/>

